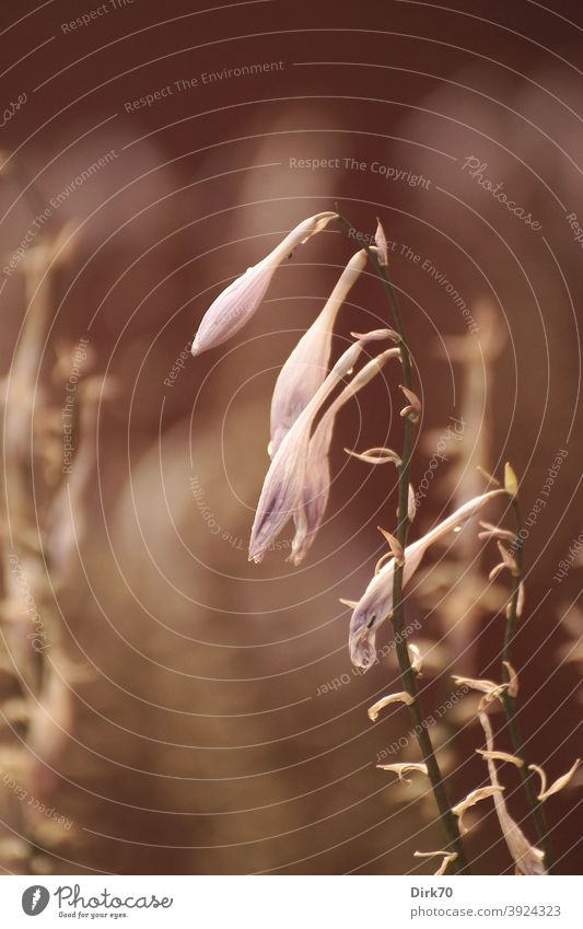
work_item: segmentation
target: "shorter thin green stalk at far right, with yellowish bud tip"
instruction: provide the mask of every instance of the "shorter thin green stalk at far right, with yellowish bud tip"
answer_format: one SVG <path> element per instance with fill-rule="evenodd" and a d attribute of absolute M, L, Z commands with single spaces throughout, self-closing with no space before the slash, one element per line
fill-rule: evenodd
<path fill-rule="evenodd" d="M 516 535 L 513 544 L 513 556 L 516 562 L 516 572 L 514 573 L 512 579 L 512 594 L 506 612 L 504 645 L 502 649 L 502 661 L 508 662 L 510 665 L 512 665 L 512 648 L 516 635 L 516 620 L 518 618 L 518 597 L 523 576 L 523 545 L 521 539 L 522 518 L 518 500 L 515 495 L 511 496 L 511 504 L 512 511 L 514 513 L 514 520 L 516 523 Z M 502 681 L 504 683 L 510 682 L 510 673 L 506 664 L 502 665 Z M 514 754 L 523 762 L 523 765 L 520 769 L 522 782 L 524 787 L 524 792 L 526 793 L 526 799 L 528 801 L 528 806 L 530 809 L 530 815 L 536 828 L 538 840 L 540 843 L 543 851 L 545 852 L 545 867 L 548 873 L 552 874 L 556 873 L 557 868 L 555 853 L 552 851 L 552 844 L 549 837 L 549 831 L 547 826 L 545 811 L 543 809 L 543 803 L 540 802 L 540 800 L 537 799 L 537 792 L 534 786 L 534 771 L 528 770 L 528 763 L 524 751 L 524 741 L 518 723 L 516 698 L 509 694 L 508 690 L 504 690 L 502 694 L 502 702 L 504 705 L 504 712 L 506 715 L 510 738 L 512 740 Z"/>

